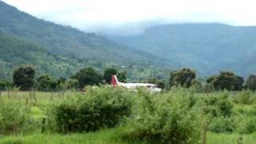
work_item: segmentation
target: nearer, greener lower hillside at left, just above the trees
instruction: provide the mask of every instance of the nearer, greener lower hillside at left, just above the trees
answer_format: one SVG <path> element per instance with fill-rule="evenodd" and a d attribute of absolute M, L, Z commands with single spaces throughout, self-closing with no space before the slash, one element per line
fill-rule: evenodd
<path fill-rule="evenodd" d="M 16 66 L 31 65 L 41 74 L 70 76 L 85 66 L 75 59 L 50 54 L 32 42 L 0 34 L 0 78 L 11 78 Z"/>

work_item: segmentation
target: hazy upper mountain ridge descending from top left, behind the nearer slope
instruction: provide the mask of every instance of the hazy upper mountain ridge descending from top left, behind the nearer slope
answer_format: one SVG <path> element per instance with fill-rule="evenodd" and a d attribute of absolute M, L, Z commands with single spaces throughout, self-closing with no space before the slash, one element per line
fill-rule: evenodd
<path fill-rule="evenodd" d="M 97 60 L 118 65 L 168 66 L 152 54 L 118 45 L 97 34 L 88 34 L 46 22 L 0 1 L 0 31 L 37 43 L 52 54 L 71 58 Z"/>

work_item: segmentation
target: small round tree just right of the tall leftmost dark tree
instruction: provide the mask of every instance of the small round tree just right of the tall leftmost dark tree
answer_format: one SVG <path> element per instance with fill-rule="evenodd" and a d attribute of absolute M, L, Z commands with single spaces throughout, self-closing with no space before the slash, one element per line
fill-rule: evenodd
<path fill-rule="evenodd" d="M 48 74 L 43 74 L 37 78 L 38 90 L 40 91 L 53 91 L 58 89 L 58 80 L 50 77 Z"/>

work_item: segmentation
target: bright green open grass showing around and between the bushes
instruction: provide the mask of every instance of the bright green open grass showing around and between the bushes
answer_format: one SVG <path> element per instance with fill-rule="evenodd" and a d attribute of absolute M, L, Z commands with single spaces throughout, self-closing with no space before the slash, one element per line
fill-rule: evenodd
<path fill-rule="evenodd" d="M 29 92 L 4 92 L 0 96 L 3 101 L 21 102 L 30 109 L 30 115 L 37 119 L 38 122 L 46 115 L 46 106 L 56 102 L 62 102 L 64 99 L 74 96 L 80 92 L 66 91 L 63 93 L 46 93 L 36 92 L 31 94 Z M 254 113 L 254 105 L 240 105 L 235 104 L 234 110 L 242 110 L 242 113 Z M 73 143 L 154 143 L 146 142 L 138 139 L 127 139 L 123 135 L 126 133 L 126 127 L 118 126 L 116 128 L 98 130 L 96 132 L 83 134 L 57 134 L 46 131 L 41 134 L 41 126 L 37 130 L 29 134 L 11 134 L 0 135 L 0 143 L 59 143 L 59 144 L 73 144 Z M 208 131 L 206 134 L 207 144 L 236 144 L 238 138 L 242 137 L 242 144 L 256 143 L 256 133 L 253 134 L 238 134 L 238 133 L 213 133 Z M 157 143 L 157 142 L 156 142 Z"/>

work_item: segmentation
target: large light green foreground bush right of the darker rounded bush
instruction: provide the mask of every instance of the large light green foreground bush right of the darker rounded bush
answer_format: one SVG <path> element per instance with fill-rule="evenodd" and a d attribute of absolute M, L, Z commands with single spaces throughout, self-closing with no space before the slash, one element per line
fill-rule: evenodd
<path fill-rule="evenodd" d="M 128 137 L 162 143 L 198 143 L 202 128 L 202 113 L 191 107 L 190 90 L 172 90 L 168 94 L 153 95 L 140 90 Z"/>

